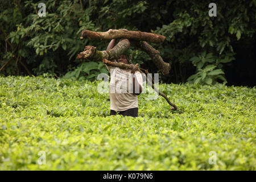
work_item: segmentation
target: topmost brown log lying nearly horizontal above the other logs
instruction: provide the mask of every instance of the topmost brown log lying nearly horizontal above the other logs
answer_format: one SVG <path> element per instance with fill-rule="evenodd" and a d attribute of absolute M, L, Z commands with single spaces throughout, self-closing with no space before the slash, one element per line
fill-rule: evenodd
<path fill-rule="evenodd" d="M 113 29 L 110 29 L 109 31 L 106 31 L 106 32 L 94 32 L 89 30 L 83 30 L 80 39 L 83 39 L 85 37 L 88 39 L 100 39 L 100 40 L 125 38 L 125 39 L 131 39 L 131 40 L 143 40 L 143 41 L 154 42 L 154 43 L 164 42 L 164 40 L 166 39 L 166 37 L 163 35 L 152 34 L 148 32 L 113 30 Z"/>

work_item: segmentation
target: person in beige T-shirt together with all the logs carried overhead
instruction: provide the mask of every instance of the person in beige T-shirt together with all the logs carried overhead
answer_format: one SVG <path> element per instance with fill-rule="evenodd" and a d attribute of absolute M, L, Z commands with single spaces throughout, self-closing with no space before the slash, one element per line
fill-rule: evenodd
<path fill-rule="evenodd" d="M 172 106 L 170 109 L 177 110 L 177 106 L 169 100 L 166 94 L 160 92 L 158 88 L 155 87 L 154 79 L 152 79 L 151 76 L 149 76 L 148 78 L 148 73 L 149 73 L 148 70 L 139 68 L 137 67 L 137 65 L 129 64 L 129 62 L 127 61 L 128 57 L 125 56 L 123 53 L 127 51 L 131 45 L 133 45 L 141 49 L 142 51 L 146 52 L 148 56 L 150 56 L 152 63 L 156 66 L 156 68 L 159 69 L 160 72 L 162 72 L 163 75 L 168 75 L 171 69 L 170 63 L 164 62 L 162 57 L 160 56 L 159 51 L 147 43 L 147 42 L 161 43 L 164 41 L 164 39 L 166 39 L 165 36 L 152 34 L 149 32 L 127 31 L 126 29 L 119 29 L 119 30 L 110 29 L 106 32 L 94 32 L 89 30 L 83 30 L 80 39 L 84 39 L 84 38 L 98 39 L 98 40 L 111 40 L 111 42 L 109 43 L 109 46 L 106 51 L 98 51 L 97 47 L 94 47 L 94 46 L 85 46 L 84 51 L 80 52 L 77 55 L 76 59 L 80 59 L 81 61 L 82 60 L 96 61 L 96 62 L 102 61 L 102 63 L 106 64 L 110 72 L 110 76 L 112 75 L 111 68 L 113 69 L 113 73 L 118 73 L 116 75 L 122 75 L 122 73 L 126 73 L 126 74 L 123 74 L 123 75 L 126 75 L 126 79 L 120 79 L 120 77 L 118 76 L 113 76 L 113 75 L 111 76 L 109 94 L 110 94 L 110 110 L 113 110 L 113 111 L 110 111 L 110 115 L 116 114 L 117 111 L 120 111 L 119 113 L 123 115 L 127 115 L 127 113 L 123 113 L 123 112 L 125 111 L 127 112 L 127 110 L 130 111 L 129 109 L 134 109 L 134 108 L 135 108 L 134 115 L 138 115 L 137 95 L 140 94 L 142 90 L 142 77 L 141 75 L 138 74 L 139 72 L 146 74 L 147 84 L 150 85 L 152 89 L 155 90 L 156 93 L 164 97 L 164 99 L 168 102 L 168 104 Z M 115 45 L 115 39 L 119 39 L 119 38 L 121 40 L 117 43 L 117 45 Z M 115 59 L 118 59 L 119 62 L 113 61 Z M 131 84 L 129 82 L 129 84 L 125 86 L 123 85 L 123 82 L 127 80 L 127 73 L 130 73 L 130 74 L 133 73 L 135 77 L 131 79 Z M 117 77 L 117 79 L 115 79 L 115 77 Z M 117 81 L 118 79 L 119 81 Z M 116 82 L 119 85 L 115 84 Z M 136 87 L 137 83 L 139 83 L 140 86 Z M 129 93 L 122 92 L 120 94 L 120 92 L 118 92 L 119 95 L 114 94 L 115 92 L 112 92 L 112 90 L 115 90 L 115 88 L 117 88 L 117 90 L 119 90 L 120 88 L 122 88 L 122 90 L 129 88 Z M 133 91 L 130 92 L 130 88 L 133 88 L 131 89 Z M 138 89 L 138 92 L 135 91 L 137 89 Z"/>

